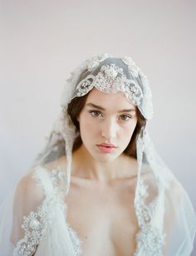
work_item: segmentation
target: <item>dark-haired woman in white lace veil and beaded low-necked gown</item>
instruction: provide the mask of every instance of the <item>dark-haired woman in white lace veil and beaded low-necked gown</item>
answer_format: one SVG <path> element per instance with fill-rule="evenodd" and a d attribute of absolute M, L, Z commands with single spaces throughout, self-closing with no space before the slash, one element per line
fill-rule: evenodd
<path fill-rule="evenodd" d="M 0 254 L 190 255 L 194 209 L 154 151 L 149 84 L 130 57 L 88 59 L 61 106 L 2 218 Z"/>

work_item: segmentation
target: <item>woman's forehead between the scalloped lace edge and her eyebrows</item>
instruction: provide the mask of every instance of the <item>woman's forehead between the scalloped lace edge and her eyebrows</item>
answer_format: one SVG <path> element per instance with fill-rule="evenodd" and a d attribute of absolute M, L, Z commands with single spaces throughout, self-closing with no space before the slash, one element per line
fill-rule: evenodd
<path fill-rule="evenodd" d="M 118 91 L 115 93 L 105 93 L 97 90 L 95 87 L 90 91 L 86 99 L 86 104 L 94 103 L 99 106 L 116 106 L 122 108 L 135 109 L 135 105 L 127 99 L 125 93 Z"/>

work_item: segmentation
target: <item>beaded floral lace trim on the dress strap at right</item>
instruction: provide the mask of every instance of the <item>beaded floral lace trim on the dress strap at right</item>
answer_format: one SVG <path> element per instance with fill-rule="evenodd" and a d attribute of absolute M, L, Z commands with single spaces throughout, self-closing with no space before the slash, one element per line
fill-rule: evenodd
<path fill-rule="evenodd" d="M 164 234 L 161 229 L 152 224 L 156 201 L 152 201 L 149 205 L 145 204 L 145 199 L 148 197 L 147 189 L 148 186 L 145 185 L 144 180 L 140 180 L 139 190 L 135 195 L 135 213 L 140 226 L 135 256 L 143 255 L 141 252 L 145 252 L 148 256 L 162 256 Z"/>

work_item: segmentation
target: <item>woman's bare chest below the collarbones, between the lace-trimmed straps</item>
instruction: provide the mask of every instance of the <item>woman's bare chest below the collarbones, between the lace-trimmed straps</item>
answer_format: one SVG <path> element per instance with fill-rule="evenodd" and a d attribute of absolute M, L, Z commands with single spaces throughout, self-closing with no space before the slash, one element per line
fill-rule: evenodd
<path fill-rule="evenodd" d="M 138 231 L 135 183 L 110 187 L 71 183 L 66 221 L 82 241 L 83 255 L 131 255 Z"/>

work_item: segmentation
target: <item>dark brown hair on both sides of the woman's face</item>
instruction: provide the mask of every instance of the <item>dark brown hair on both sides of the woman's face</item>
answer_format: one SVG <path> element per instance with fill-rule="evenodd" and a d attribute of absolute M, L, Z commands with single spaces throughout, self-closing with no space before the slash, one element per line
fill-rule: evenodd
<path fill-rule="evenodd" d="M 80 126 L 79 126 L 79 122 L 77 121 L 77 117 L 80 115 L 81 110 L 83 109 L 83 107 L 86 104 L 86 98 L 87 98 L 88 94 L 89 93 L 87 93 L 85 96 L 75 97 L 68 104 L 67 112 L 68 112 L 69 116 L 71 116 L 71 121 L 73 121 L 74 125 L 76 126 L 77 131 L 80 131 Z M 139 135 L 142 127 L 145 127 L 145 125 L 146 125 L 145 117 L 142 116 L 138 107 L 136 107 L 136 116 L 137 116 L 137 124 L 135 126 L 134 133 L 131 136 L 129 145 L 126 147 L 126 149 L 124 151 L 124 153 L 126 155 L 131 155 L 135 158 L 137 158 L 137 156 L 136 156 L 137 136 Z M 81 146 L 81 144 L 82 144 L 81 136 L 78 135 L 76 137 L 76 140 L 74 141 L 73 151 L 77 150 Z"/>

